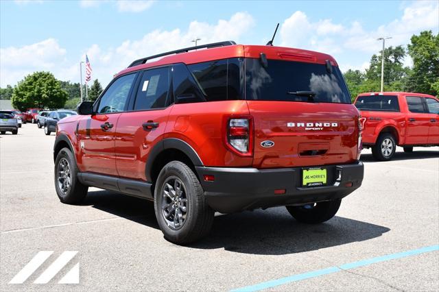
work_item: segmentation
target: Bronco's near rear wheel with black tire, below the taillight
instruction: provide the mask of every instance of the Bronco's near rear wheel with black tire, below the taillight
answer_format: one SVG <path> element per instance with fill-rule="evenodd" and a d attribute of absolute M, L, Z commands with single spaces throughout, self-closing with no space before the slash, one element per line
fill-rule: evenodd
<path fill-rule="evenodd" d="M 182 208 L 176 208 L 174 204 L 180 204 L 180 202 L 174 202 L 173 199 L 167 197 L 165 195 L 165 191 L 167 187 L 167 182 L 169 184 L 173 184 L 172 180 L 180 181 L 180 188 L 183 193 L 179 198 L 185 198 L 187 212 L 182 215 Z M 175 187 L 175 184 L 173 184 Z M 174 188 L 172 188 L 174 189 Z M 171 190 L 168 188 L 168 193 L 171 193 Z M 175 192 L 174 192 L 175 193 Z M 175 197 L 174 197 L 175 198 Z M 168 201 L 171 201 L 170 204 L 167 204 Z M 172 226 L 172 223 L 169 221 L 173 220 L 169 217 L 169 221 L 165 219 L 165 212 L 168 212 L 169 209 L 167 207 L 163 207 L 164 204 L 167 206 L 174 207 L 174 210 L 179 210 L 180 208 L 180 217 L 185 217 L 184 221 L 180 224 L 180 226 Z M 158 226 L 163 232 L 165 239 L 171 241 L 176 244 L 187 244 L 197 241 L 201 239 L 203 236 L 206 236 L 212 228 L 214 212 L 206 203 L 206 198 L 204 197 L 203 188 L 198 181 L 197 176 L 193 171 L 184 163 L 180 161 L 171 161 L 163 169 L 158 175 L 156 181 L 156 188 L 154 191 L 154 210 L 156 213 L 156 218 L 158 221 Z M 172 214 L 172 210 L 168 212 L 168 214 Z M 175 214 L 175 213 L 174 213 Z M 175 217 L 171 216 L 171 217 Z M 175 221 L 174 221 L 175 223 Z M 178 229 L 176 229 L 178 228 Z"/>

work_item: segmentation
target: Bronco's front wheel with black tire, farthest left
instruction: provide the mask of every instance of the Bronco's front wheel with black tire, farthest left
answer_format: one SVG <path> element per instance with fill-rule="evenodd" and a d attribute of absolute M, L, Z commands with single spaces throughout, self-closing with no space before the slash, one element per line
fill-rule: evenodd
<path fill-rule="evenodd" d="M 69 166 L 69 186 L 62 190 L 62 180 L 60 180 L 61 174 L 61 166 L 60 164 L 63 162 L 68 163 Z M 60 201 L 64 204 L 79 204 L 82 202 L 84 197 L 87 195 L 88 186 L 84 186 L 79 180 L 78 180 L 78 173 L 79 173 L 78 165 L 76 165 L 75 156 L 71 153 L 69 148 L 62 148 L 58 155 L 56 156 L 55 160 L 55 167 L 54 167 L 54 180 L 55 180 L 55 190 L 56 194 L 58 195 L 58 198 Z M 65 171 L 64 171 L 65 173 Z M 66 178 L 64 178 L 65 180 Z M 59 182 L 59 183 L 58 183 Z"/>

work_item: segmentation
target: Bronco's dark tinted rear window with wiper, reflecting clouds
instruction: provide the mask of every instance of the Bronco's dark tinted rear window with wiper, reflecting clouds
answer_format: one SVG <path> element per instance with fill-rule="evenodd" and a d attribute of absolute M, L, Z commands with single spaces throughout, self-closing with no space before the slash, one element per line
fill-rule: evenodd
<path fill-rule="evenodd" d="M 246 99 L 351 104 L 337 66 L 332 66 L 330 73 L 324 64 L 268 60 L 265 68 L 259 59 L 249 58 L 246 59 Z"/>

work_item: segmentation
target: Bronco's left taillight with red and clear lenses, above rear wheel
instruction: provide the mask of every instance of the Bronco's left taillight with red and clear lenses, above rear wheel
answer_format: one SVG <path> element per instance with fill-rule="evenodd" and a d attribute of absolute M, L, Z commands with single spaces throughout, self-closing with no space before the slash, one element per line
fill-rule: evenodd
<path fill-rule="evenodd" d="M 253 155 L 252 117 L 229 116 L 225 119 L 224 143 L 239 156 Z"/>

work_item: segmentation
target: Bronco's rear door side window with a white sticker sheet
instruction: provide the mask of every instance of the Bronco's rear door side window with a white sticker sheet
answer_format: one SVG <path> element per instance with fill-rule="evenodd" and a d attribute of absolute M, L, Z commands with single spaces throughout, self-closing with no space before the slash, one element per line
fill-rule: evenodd
<path fill-rule="evenodd" d="M 144 71 L 137 90 L 134 110 L 164 108 L 169 90 L 169 68 Z"/>

